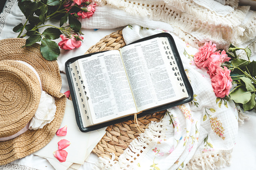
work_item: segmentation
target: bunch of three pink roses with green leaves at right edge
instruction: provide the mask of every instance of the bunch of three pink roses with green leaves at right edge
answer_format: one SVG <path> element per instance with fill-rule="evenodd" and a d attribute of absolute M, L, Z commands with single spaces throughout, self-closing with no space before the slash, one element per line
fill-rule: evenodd
<path fill-rule="evenodd" d="M 195 64 L 207 69 L 210 75 L 216 103 L 219 102 L 220 107 L 224 101 L 227 107 L 226 101 L 231 99 L 244 111 L 256 108 L 256 61 L 250 61 L 251 51 L 232 44 L 227 52 L 216 50 L 216 44 L 206 42 L 194 55 Z M 243 50 L 248 60 L 239 59 L 238 50 Z"/>

